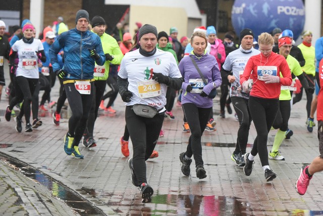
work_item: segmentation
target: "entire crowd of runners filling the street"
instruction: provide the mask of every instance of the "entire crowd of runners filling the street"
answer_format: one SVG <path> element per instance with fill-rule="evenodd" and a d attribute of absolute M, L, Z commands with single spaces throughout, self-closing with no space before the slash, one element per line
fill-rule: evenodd
<path fill-rule="evenodd" d="M 201 137 L 204 131 L 216 131 L 212 107 L 220 88 L 219 117 L 225 118 L 227 109 L 229 114 L 235 113 L 240 125 L 236 148 L 228 157 L 250 176 L 254 158 L 259 154 L 264 177 L 269 182 L 277 177 L 269 159 L 285 160 L 279 147 L 293 135 L 288 120 L 304 89 L 307 98 L 304 130 L 313 132 L 317 111 L 319 139 L 319 156 L 301 168 L 296 182 L 297 192 L 305 194 L 313 174 L 323 170 L 320 90 L 323 37 L 315 41 L 314 48 L 312 33 L 305 30 L 302 43 L 296 46 L 289 29 L 275 28 L 270 33 L 254 35 L 252 29 L 246 28 L 236 32 L 238 44 L 235 44 L 233 32 L 227 32 L 222 40 L 214 26 L 196 27 L 192 35 L 179 39 L 176 27 L 171 27 L 168 34 L 167 29 L 158 32 L 151 24 L 137 22 L 136 25 L 133 37 L 127 25 L 121 23 L 108 34 L 102 17 L 90 20 L 87 11 L 79 10 L 75 28 L 68 30 L 64 18 L 58 17 L 37 39 L 33 24 L 26 19 L 21 26 L 14 26 L 14 33 L 8 39 L 4 35 L 6 23 L 0 20 L 0 97 L 8 84 L 5 119 L 10 121 L 15 116 L 16 131 L 21 133 L 25 123 L 24 131 L 31 133 L 42 125 L 38 111 L 48 111 L 56 105 L 52 117 L 59 126 L 67 99 L 72 115 L 64 137 L 64 152 L 83 159 L 80 142 L 87 149 L 96 146 L 94 125 L 98 111 L 116 113 L 113 103 L 119 93 L 125 102 L 121 152 L 129 157 L 131 138 L 133 155 L 128 160 L 131 181 L 140 188 L 142 202 L 150 202 L 153 189 L 147 183 L 145 161 L 158 157 L 154 148 L 159 137 L 167 136 L 162 129 L 163 121 L 175 118 L 174 105 L 182 107 L 183 132 L 190 133 L 186 151 L 179 152 L 183 175 L 193 175 L 190 169 L 193 157 L 196 177 L 207 176 Z M 10 71 L 4 71 L 5 59 L 9 61 Z M 10 80 L 5 80 L 5 73 L 10 74 Z M 61 85 L 60 97 L 53 102 L 50 90 L 56 80 Z M 110 91 L 105 92 L 106 84 Z M 43 91 L 41 100 L 39 91 Z M 104 106 L 107 98 L 109 102 Z M 15 107 L 20 110 L 18 115 Z M 252 121 L 257 137 L 251 151 L 246 152 Z M 271 129 L 277 132 L 268 152 Z"/>

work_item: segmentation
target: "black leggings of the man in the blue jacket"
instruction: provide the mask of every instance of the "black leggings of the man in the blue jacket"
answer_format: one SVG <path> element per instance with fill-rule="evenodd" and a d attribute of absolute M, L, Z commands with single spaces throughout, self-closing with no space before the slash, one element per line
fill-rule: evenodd
<path fill-rule="evenodd" d="M 86 128 L 93 100 L 94 84 L 91 82 L 91 94 L 81 95 L 74 83 L 64 84 L 67 100 L 72 110 L 69 119 L 69 134 L 74 137 L 74 146 L 78 146 Z"/>

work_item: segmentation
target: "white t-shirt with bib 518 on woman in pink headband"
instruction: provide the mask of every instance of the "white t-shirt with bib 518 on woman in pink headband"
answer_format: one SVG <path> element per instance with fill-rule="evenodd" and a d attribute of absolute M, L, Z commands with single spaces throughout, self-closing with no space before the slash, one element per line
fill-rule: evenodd
<path fill-rule="evenodd" d="M 34 39 L 31 44 L 27 44 L 20 39 L 12 46 L 12 50 L 18 52 L 19 57 L 16 76 L 39 78 L 38 57 L 36 52 L 44 50 L 41 41 L 39 39 Z"/>

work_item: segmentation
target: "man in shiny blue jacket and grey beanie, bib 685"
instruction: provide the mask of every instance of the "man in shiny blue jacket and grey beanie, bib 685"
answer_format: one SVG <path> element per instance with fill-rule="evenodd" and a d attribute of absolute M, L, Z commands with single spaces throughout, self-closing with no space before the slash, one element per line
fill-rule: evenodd
<path fill-rule="evenodd" d="M 79 151 L 86 122 L 93 100 L 94 64 L 103 65 L 105 56 L 100 37 L 88 31 L 89 14 L 85 10 L 76 13 L 76 28 L 62 33 L 49 50 L 53 71 L 63 79 L 67 100 L 72 110 L 69 131 L 64 139 L 67 155 L 84 158 Z M 64 51 L 64 67 L 61 68 L 57 54 Z"/>

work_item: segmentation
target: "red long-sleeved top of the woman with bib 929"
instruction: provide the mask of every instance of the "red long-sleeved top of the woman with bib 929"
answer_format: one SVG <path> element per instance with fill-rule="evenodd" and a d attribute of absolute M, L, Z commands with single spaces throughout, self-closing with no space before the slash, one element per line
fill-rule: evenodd
<path fill-rule="evenodd" d="M 260 62 L 261 60 L 261 62 Z M 277 76 L 280 76 L 279 71 L 282 73 L 283 77 L 280 77 L 279 83 L 268 83 L 265 84 L 264 81 L 258 80 L 257 67 L 258 66 L 276 66 Z M 252 72 L 253 71 L 253 72 Z M 253 85 L 250 92 L 250 96 L 257 98 L 266 99 L 278 99 L 281 94 L 281 85 L 291 85 L 292 75 L 291 70 L 287 64 L 286 59 L 274 52 L 269 57 L 263 56 L 262 53 L 250 57 L 247 65 L 243 71 L 242 77 L 240 78 L 240 84 L 249 79 L 250 73 L 253 79 Z"/>

